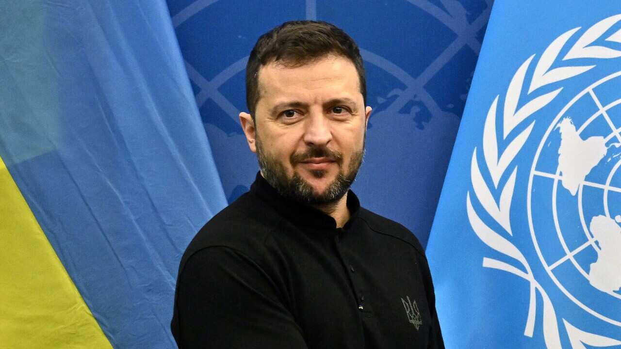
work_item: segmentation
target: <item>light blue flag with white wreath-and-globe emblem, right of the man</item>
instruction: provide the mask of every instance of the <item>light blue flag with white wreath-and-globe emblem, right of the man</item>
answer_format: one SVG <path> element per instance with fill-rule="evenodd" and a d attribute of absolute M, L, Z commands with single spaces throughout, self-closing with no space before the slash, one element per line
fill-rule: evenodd
<path fill-rule="evenodd" d="M 494 4 L 428 245 L 447 348 L 621 348 L 621 4 Z"/>

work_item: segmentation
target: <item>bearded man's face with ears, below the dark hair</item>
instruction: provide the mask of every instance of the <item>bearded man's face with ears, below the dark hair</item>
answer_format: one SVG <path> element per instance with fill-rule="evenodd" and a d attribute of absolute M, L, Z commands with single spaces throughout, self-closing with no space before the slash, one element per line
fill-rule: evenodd
<path fill-rule="evenodd" d="M 255 122 L 240 118 L 263 177 L 308 204 L 340 199 L 360 168 L 371 114 L 353 63 L 335 55 L 295 68 L 273 62 L 258 80 Z"/>

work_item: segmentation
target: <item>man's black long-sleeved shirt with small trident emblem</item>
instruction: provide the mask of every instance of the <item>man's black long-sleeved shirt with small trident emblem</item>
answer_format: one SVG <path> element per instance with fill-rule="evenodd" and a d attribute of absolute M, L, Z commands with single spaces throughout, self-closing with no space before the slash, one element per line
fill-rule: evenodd
<path fill-rule="evenodd" d="M 351 191 L 347 207 L 337 228 L 257 174 L 181 259 L 179 348 L 444 348 L 418 240 Z"/>

